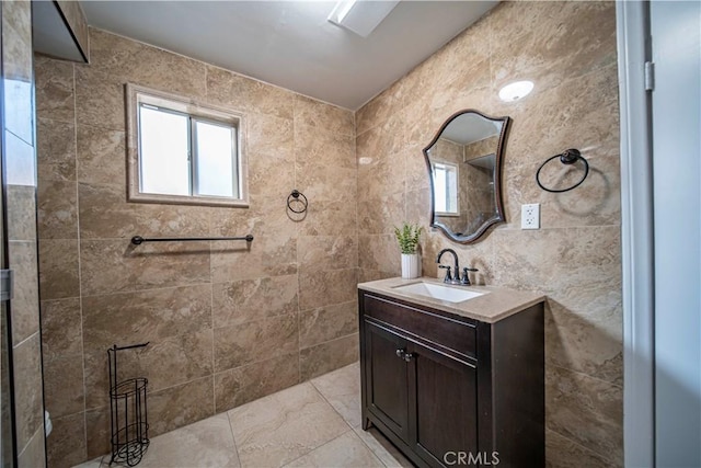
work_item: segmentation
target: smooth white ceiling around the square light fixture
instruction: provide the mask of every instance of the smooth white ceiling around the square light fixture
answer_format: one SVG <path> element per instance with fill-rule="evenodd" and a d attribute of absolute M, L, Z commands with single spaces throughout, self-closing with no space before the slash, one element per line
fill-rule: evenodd
<path fill-rule="evenodd" d="M 85 1 L 91 26 L 357 110 L 498 1 L 401 1 L 363 38 L 331 1 Z"/>

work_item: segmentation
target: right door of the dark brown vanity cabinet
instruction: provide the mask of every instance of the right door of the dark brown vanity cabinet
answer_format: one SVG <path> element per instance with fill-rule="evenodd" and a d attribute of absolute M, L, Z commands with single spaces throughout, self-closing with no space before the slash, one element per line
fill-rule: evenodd
<path fill-rule="evenodd" d="M 430 466 L 478 457 L 476 368 L 418 344 L 407 351 L 410 445 Z"/>

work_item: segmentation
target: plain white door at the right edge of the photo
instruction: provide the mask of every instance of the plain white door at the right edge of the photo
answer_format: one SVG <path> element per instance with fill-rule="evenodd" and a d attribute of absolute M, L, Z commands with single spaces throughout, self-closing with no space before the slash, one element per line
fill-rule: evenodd
<path fill-rule="evenodd" d="M 701 2 L 650 8 L 655 459 L 701 467 Z"/>

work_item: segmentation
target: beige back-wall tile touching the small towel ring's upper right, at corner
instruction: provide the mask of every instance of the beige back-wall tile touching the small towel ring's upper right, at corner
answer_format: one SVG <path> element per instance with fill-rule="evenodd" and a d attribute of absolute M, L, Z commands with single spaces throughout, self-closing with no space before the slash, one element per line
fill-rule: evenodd
<path fill-rule="evenodd" d="M 297 163 L 297 189 L 309 201 L 342 202 L 353 209 L 357 193 L 357 171 L 333 165 Z"/>

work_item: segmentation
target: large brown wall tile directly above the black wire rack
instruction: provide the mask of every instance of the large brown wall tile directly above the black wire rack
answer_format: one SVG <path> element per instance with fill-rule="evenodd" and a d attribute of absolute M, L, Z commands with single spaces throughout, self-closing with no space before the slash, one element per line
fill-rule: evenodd
<path fill-rule="evenodd" d="M 82 298 L 85 350 L 142 343 L 211 328 L 211 287 L 183 286 Z"/>

